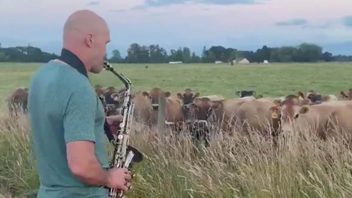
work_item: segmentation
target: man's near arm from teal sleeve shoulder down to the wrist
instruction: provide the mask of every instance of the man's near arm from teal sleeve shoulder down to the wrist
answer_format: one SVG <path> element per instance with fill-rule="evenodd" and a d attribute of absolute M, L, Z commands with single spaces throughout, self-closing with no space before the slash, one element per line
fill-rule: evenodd
<path fill-rule="evenodd" d="M 81 88 L 71 94 L 64 114 L 67 162 L 71 172 L 90 185 L 107 185 L 107 171 L 94 154 L 96 101 Z"/>

